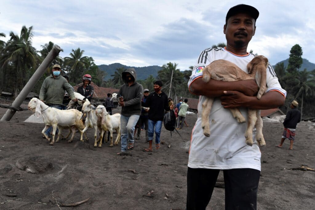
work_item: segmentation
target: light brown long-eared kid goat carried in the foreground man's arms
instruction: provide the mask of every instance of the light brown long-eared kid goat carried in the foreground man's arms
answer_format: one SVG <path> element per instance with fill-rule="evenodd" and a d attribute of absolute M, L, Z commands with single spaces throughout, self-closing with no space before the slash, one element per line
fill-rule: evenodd
<path fill-rule="evenodd" d="M 257 98 L 260 99 L 262 94 L 266 90 L 266 68 L 268 65 L 268 59 L 262 55 L 258 55 L 253 58 L 247 64 L 248 74 L 242 71 L 237 65 L 226 60 L 216 60 L 210 63 L 203 69 L 203 81 L 209 82 L 209 80 L 222 80 L 222 81 L 238 81 L 247 79 L 256 79 L 260 89 L 257 94 Z M 256 76 L 257 74 L 257 76 Z M 211 112 L 212 103 L 214 98 L 207 98 L 202 104 L 202 128 L 205 136 L 210 136 L 209 127 L 209 114 Z M 233 117 L 235 117 L 239 123 L 245 122 L 245 118 L 242 116 L 238 108 L 231 108 Z M 256 140 L 259 146 L 266 146 L 264 136 L 262 134 L 263 122 L 260 116 L 260 110 L 248 109 L 248 122 L 245 132 L 246 144 L 253 145 L 253 129 L 256 125 L 257 134 Z"/>

